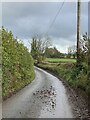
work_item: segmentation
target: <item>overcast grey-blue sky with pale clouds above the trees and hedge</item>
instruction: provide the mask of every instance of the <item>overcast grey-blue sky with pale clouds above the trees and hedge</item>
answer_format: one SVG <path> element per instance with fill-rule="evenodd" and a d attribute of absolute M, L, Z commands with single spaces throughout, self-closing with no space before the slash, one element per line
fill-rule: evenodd
<path fill-rule="evenodd" d="M 5 1 L 5 0 L 4 0 Z M 62 2 L 3 2 L 2 25 L 27 45 L 35 34 L 46 33 Z M 48 36 L 61 52 L 76 43 L 76 2 L 65 2 Z M 81 34 L 88 31 L 88 3 L 81 4 Z"/>

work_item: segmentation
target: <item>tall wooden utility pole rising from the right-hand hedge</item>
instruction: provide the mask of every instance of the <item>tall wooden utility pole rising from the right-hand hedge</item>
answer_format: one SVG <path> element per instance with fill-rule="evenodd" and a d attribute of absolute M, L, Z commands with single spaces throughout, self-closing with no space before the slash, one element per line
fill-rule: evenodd
<path fill-rule="evenodd" d="M 77 1 L 77 65 L 80 64 L 80 0 Z"/>

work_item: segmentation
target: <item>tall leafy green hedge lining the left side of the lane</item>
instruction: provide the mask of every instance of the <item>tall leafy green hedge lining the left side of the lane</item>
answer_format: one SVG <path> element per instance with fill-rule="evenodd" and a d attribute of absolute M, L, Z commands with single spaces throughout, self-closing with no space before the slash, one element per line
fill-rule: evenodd
<path fill-rule="evenodd" d="M 12 95 L 34 79 L 33 59 L 21 41 L 2 27 L 2 94 Z"/>

